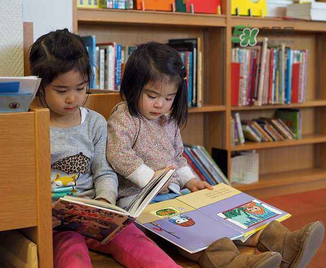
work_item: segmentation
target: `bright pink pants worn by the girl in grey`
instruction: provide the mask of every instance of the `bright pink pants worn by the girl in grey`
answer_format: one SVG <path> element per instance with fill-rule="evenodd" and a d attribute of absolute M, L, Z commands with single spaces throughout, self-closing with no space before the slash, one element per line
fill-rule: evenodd
<path fill-rule="evenodd" d="M 181 268 L 134 224 L 106 245 L 77 232 L 53 231 L 54 268 L 92 268 L 88 248 L 111 254 L 127 268 Z"/>

